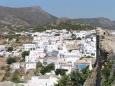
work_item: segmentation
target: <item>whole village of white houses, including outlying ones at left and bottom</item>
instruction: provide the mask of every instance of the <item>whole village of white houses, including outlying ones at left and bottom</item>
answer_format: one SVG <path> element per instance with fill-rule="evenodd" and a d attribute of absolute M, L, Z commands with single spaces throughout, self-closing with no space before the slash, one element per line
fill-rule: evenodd
<path fill-rule="evenodd" d="M 22 51 L 29 51 L 29 55 L 25 57 L 24 64 L 14 63 L 12 68 L 19 69 L 22 66 L 28 71 L 36 69 L 36 64 L 40 61 L 47 64 L 53 63 L 55 69 L 67 69 L 68 72 L 74 69 L 81 70 L 87 66 L 92 70 L 92 59 L 96 58 L 95 33 L 95 30 L 70 32 L 66 29 L 30 33 L 33 41 L 22 45 Z M 72 38 L 73 34 L 75 39 Z M 3 45 L 0 45 L 0 55 L 4 54 L 4 48 Z M 17 55 L 16 51 L 14 53 Z M 83 57 L 88 58 L 81 59 Z M 35 83 L 39 83 L 39 86 L 53 86 L 50 82 L 52 78 L 49 76 L 47 78 L 49 80 L 44 79 L 44 76 L 32 77 L 32 80 L 28 81 L 30 85 L 26 85 L 36 86 Z M 45 83 L 43 83 L 44 81 Z M 40 85 L 40 83 L 44 85 Z"/>

